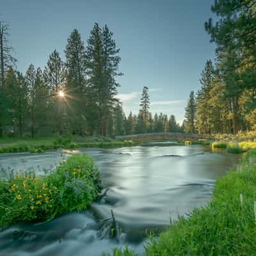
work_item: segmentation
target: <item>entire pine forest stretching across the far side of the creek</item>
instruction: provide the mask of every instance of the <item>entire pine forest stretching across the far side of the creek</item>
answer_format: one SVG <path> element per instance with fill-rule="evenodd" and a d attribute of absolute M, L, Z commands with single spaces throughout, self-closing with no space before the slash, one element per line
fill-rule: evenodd
<path fill-rule="evenodd" d="M 207 60 L 198 92 L 191 91 L 182 125 L 174 115 L 150 112 L 148 87 L 140 111 L 125 116 L 118 100 L 121 61 L 113 33 L 95 23 L 85 45 L 74 29 L 67 39 L 65 61 L 54 50 L 44 67 L 17 70 L 9 44 L 10 28 L 0 24 L 0 136 L 79 134 L 110 136 L 150 132 L 236 134 L 256 125 L 255 3 L 216 3 L 223 17 L 205 30 L 216 44 L 216 60 Z M 237 16 L 237 12 L 241 15 Z M 142 86 L 141 86 L 142 87 Z"/>

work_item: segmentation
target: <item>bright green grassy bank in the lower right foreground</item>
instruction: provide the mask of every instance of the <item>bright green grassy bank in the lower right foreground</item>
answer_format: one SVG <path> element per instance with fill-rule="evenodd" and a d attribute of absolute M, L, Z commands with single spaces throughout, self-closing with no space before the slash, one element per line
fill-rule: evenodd
<path fill-rule="evenodd" d="M 180 217 L 159 239 L 152 239 L 147 256 L 255 255 L 256 152 L 246 153 L 239 170 L 217 180 L 212 202 Z M 115 256 L 134 256 L 115 250 Z"/>

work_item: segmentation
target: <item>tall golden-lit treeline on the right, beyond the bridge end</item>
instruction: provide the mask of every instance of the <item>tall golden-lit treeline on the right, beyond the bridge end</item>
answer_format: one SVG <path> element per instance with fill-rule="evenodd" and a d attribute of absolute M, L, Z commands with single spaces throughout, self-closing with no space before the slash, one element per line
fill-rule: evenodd
<path fill-rule="evenodd" d="M 207 61 L 201 88 L 188 100 L 186 132 L 234 133 L 256 129 L 256 2 L 217 0 L 205 22 L 215 42 L 216 63 Z"/>

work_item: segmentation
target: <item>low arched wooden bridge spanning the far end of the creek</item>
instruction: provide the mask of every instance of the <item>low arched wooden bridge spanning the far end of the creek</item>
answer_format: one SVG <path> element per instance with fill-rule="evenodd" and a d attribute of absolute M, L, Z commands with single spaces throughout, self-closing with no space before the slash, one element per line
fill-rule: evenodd
<path fill-rule="evenodd" d="M 197 141 L 211 140 L 214 136 L 205 134 L 191 134 L 180 132 L 154 132 L 144 134 L 133 134 L 116 136 L 116 140 L 150 141 L 150 140 L 178 140 L 178 141 Z"/>

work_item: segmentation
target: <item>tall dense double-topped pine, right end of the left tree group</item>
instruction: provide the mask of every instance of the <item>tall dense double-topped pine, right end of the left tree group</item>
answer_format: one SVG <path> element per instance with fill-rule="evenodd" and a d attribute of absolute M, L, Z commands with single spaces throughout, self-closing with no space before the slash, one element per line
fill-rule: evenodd
<path fill-rule="evenodd" d="M 91 31 L 87 46 L 87 63 L 89 75 L 90 98 L 94 99 L 89 109 L 98 109 L 101 134 L 106 136 L 106 120 L 109 111 L 116 102 L 116 76 L 122 75 L 118 71 L 120 57 L 117 55 L 119 49 L 116 48 L 113 33 L 108 26 L 100 29 L 99 24 L 95 23 Z M 94 106 L 93 106 L 94 105 Z"/>

